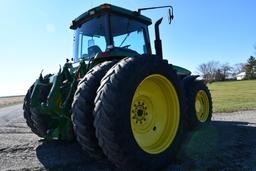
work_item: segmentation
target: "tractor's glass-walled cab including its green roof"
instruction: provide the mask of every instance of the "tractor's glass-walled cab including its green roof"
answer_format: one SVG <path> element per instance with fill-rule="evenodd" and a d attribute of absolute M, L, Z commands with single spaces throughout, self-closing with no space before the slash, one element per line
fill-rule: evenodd
<path fill-rule="evenodd" d="M 101 57 L 151 54 L 148 25 L 138 12 L 109 4 L 93 8 L 72 22 L 74 62 Z"/>

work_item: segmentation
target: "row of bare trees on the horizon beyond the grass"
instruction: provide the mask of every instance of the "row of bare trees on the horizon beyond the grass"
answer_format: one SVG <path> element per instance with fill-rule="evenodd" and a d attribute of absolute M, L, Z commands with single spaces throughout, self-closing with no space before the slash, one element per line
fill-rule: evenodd
<path fill-rule="evenodd" d="M 218 61 L 202 63 L 197 68 L 201 77 L 208 81 L 235 80 L 238 74 L 244 74 L 242 79 L 256 79 L 256 59 L 253 56 L 248 58 L 246 63 L 239 63 L 231 66 L 229 63 L 221 64 Z"/>

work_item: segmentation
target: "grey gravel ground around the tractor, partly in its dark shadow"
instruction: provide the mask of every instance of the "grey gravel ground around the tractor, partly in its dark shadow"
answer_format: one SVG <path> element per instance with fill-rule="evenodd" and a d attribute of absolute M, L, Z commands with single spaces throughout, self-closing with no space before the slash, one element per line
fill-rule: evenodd
<path fill-rule="evenodd" d="M 187 135 L 171 170 L 256 170 L 256 111 L 214 114 Z M 0 170 L 118 170 L 95 161 L 77 143 L 43 142 L 26 126 L 22 105 L 0 109 Z"/>

